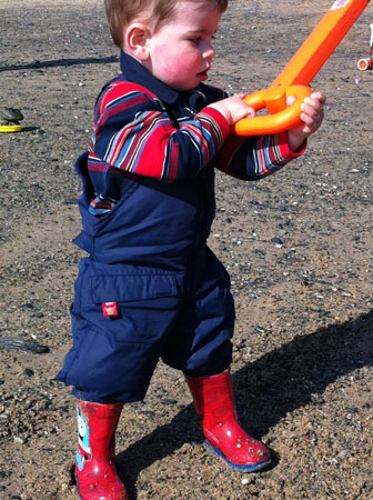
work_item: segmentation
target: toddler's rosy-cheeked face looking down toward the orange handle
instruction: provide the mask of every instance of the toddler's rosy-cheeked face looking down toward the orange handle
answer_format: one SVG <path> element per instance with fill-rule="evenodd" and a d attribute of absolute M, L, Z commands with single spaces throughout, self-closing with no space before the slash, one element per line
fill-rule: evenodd
<path fill-rule="evenodd" d="M 180 1 L 172 20 L 151 36 L 144 66 L 173 89 L 193 89 L 208 79 L 221 16 L 213 0 Z"/>

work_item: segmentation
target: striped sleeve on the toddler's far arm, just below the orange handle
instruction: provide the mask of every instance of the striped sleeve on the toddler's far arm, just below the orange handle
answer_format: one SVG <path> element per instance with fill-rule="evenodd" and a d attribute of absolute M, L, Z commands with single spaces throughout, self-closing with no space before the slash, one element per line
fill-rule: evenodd
<path fill-rule="evenodd" d="M 281 170 L 305 151 L 305 141 L 292 152 L 286 132 L 273 136 L 241 138 L 230 136 L 216 154 L 216 167 L 243 180 L 258 180 Z"/>

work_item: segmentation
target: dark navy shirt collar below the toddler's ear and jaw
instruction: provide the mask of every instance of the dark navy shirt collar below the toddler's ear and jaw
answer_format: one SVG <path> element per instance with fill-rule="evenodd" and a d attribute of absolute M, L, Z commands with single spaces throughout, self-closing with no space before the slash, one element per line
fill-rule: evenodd
<path fill-rule="evenodd" d="M 139 61 L 123 51 L 120 56 L 120 67 L 125 80 L 145 87 L 164 103 L 174 104 L 181 98 L 178 90 L 153 77 Z"/>

